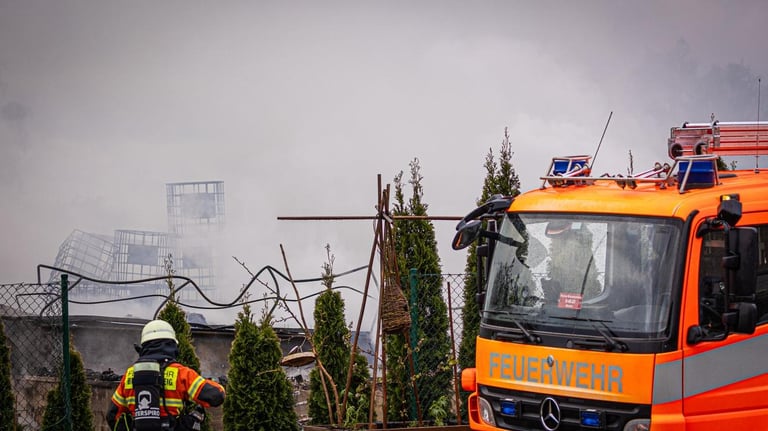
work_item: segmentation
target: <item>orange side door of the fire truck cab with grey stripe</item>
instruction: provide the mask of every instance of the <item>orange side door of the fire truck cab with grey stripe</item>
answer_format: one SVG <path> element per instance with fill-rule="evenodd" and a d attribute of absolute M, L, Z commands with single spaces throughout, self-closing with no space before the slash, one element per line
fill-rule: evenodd
<path fill-rule="evenodd" d="M 744 214 L 739 225 L 757 227 L 758 280 L 768 288 L 768 215 Z M 724 317 L 728 309 L 739 306 L 724 298 L 727 241 L 723 232 L 691 235 L 683 312 L 683 329 L 689 330 L 683 337 L 683 413 L 686 423 L 696 424 L 696 429 L 750 429 L 768 421 L 768 325 L 758 322 L 752 334 L 739 333 L 733 320 Z M 756 315 L 768 314 L 765 308 L 759 306 Z M 743 313 L 742 319 L 748 315 Z M 691 336 L 697 331 L 698 339 Z"/>

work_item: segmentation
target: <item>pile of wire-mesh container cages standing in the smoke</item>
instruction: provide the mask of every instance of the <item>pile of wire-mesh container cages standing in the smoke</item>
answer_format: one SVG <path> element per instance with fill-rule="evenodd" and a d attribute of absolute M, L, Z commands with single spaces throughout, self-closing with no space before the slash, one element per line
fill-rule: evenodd
<path fill-rule="evenodd" d="M 214 240 L 224 231 L 223 181 L 166 184 L 169 232 L 117 229 L 113 236 L 74 230 L 59 247 L 55 267 L 96 280 L 132 281 L 167 276 L 172 259 L 176 275 L 188 277 L 209 298 L 215 297 Z M 55 281 L 58 271 L 52 271 Z M 167 294 L 166 280 L 141 284 L 102 284 L 83 280 L 71 291 L 77 299 L 112 299 Z M 202 300 L 194 289 L 179 299 Z"/>

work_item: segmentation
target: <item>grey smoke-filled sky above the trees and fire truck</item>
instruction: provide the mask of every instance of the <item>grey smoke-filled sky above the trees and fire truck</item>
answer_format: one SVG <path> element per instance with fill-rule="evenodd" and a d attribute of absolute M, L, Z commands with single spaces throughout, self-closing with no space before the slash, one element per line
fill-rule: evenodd
<path fill-rule="evenodd" d="M 165 231 L 165 183 L 222 180 L 232 291 L 251 269 L 368 261 L 376 175 L 418 157 L 433 215 L 463 215 L 509 127 L 523 189 L 552 156 L 666 161 L 683 121 L 754 120 L 763 1 L 0 0 L 0 282 L 73 229 Z M 763 85 L 765 96 L 768 85 Z M 763 98 L 766 99 L 765 97 Z M 768 103 L 761 118 L 768 119 Z M 444 272 L 461 272 L 436 222 Z M 227 296 L 227 295 L 225 295 Z"/>

